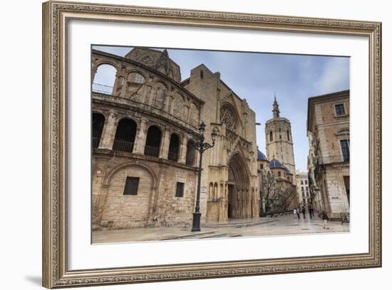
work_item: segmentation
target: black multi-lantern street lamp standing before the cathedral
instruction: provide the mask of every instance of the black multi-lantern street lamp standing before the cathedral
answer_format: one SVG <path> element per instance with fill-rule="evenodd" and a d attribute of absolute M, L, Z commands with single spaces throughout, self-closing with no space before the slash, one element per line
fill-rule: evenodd
<path fill-rule="evenodd" d="M 202 213 L 200 213 L 200 183 L 202 181 L 202 159 L 203 153 L 207 149 L 212 148 L 215 145 L 215 139 L 217 139 L 217 133 L 212 131 L 211 133 L 211 140 L 212 144 L 206 143 L 205 136 L 205 123 L 202 122 L 199 126 L 199 141 L 195 142 L 195 149 L 200 153 L 200 160 L 199 160 L 199 171 L 197 175 L 197 195 L 196 195 L 196 206 L 195 206 L 195 213 L 193 213 L 193 222 L 192 222 L 192 232 L 200 232 L 200 217 Z M 192 131 L 188 134 L 188 139 L 192 140 Z"/>

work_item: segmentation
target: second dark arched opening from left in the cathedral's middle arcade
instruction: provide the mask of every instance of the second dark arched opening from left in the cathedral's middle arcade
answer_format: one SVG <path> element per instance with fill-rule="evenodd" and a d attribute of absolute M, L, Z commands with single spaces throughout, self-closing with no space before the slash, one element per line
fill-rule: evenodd
<path fill-rule="evenodd" d="M 113 150 L 132 152 L 136 136 L 136 122 L 132 119 L 122 119 L 115 131 Z"/>

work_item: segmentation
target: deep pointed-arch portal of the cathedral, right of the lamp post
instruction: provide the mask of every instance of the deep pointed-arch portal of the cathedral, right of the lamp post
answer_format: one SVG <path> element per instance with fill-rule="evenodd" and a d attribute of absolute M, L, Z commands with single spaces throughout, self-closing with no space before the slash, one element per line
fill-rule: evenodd
<path fill-rule="evenodd" d="M 236 153 L 230 158 L 228 166 L 227 217 L 249 218 L 252 215 L 252 202 L 247 163 L 243 156 Z"/>

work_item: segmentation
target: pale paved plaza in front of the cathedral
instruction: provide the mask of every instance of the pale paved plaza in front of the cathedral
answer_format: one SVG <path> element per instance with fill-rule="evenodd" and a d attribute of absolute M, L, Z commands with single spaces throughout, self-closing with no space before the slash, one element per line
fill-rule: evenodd
<path fill-rule="evenodd" d="M 202 225 L 200 232 L 181 227 L 143 227 L 130 230 L 100 230 L 93 232 L 93 243 L 142 242 L 158 240 L 212 239 L 217 237 L 252 237 L 264 235 L 304 235 L 331 232 L 349 232 L 350 226 L 340 221 L 329 221 L 329 229 L 315 216 L 304 219 L 296 215 L 278 215 L 274 218 L 231 219 L 219 225 Z"/>

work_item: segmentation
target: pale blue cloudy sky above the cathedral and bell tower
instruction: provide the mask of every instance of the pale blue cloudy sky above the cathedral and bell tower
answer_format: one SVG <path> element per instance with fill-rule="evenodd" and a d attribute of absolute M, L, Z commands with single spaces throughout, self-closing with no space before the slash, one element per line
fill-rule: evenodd
<path fill-rule="evenodd" d="M 124 56 L 130 47 L 95 46 Z M 272 118 L 272 102 L 277 96 L 281 117 L 292 123 L 296 168 L 306 172 L 309 150 L 306 137 L 307 99 L 349 89 L 349 58 L 319 55 L 237 53 L 207 50 L 167 50 L 181 68 L 182 80 L 190 70 L 204 63 L 256 112 L 257 145 L 265 153 L 264 124 Z M 113 84 L 111 71 L 97 74 L 94 82 Z"/>

